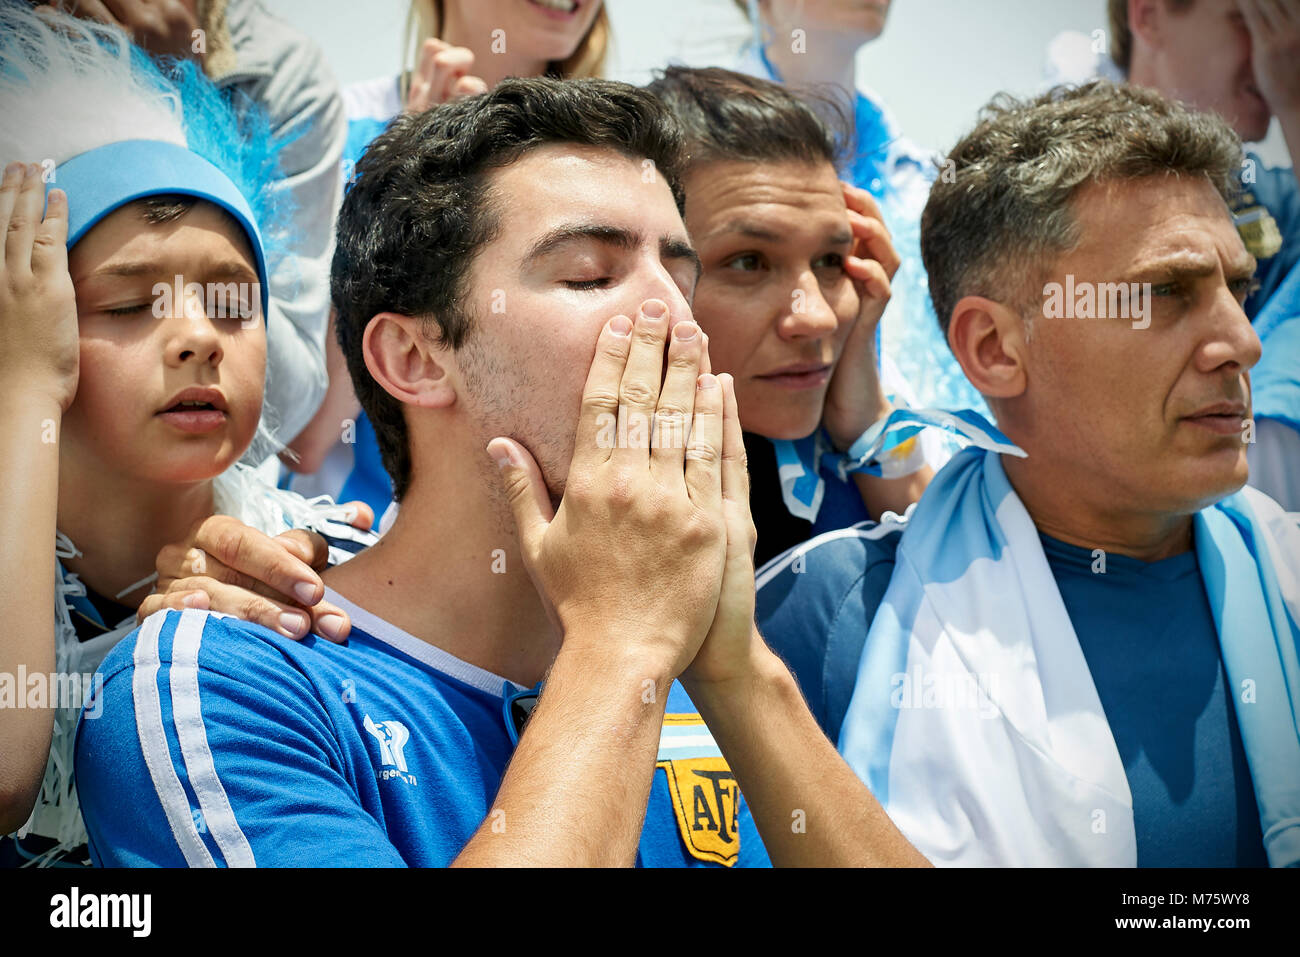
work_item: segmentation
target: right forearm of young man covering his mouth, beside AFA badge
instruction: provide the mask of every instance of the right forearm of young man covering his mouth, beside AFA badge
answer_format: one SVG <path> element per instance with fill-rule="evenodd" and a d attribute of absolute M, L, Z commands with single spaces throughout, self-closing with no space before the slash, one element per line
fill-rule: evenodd
<path fill-rule="evenodd" d="M 777 866 L 926 866 L 818 727 L 794 677 L 754 632 L 727 687 L 688 684 Z"/>

